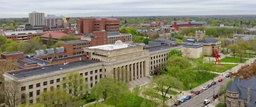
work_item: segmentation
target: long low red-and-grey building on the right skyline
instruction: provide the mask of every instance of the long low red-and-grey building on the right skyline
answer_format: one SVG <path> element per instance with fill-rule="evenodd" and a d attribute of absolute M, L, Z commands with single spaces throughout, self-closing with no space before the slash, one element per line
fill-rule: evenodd
<path fill-rule="evenodd" d="M 202 27 L 206 25 L 206 22 L 185 20 L 185 21 L 172 21 L 171 24 L 172 24 L 172 28 L 174 28 L 175 30 L 180 30 L 188 27 Z"/>

